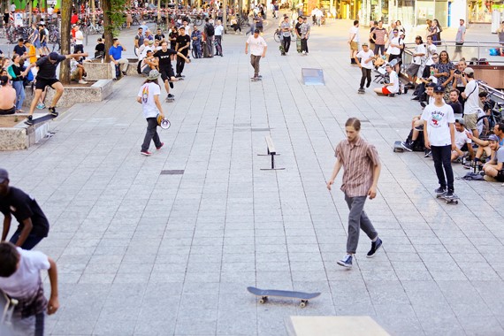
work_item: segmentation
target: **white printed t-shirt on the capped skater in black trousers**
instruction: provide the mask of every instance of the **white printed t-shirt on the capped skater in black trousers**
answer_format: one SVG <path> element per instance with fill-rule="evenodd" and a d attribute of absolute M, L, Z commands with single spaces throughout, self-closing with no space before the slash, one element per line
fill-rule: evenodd
<path fill-rule="evenodd" d="M 454 109 L 443 102 L 442 106 L 431 103 L 425 106 L 422 120 L 427 121 L 427 134 L 432 146 L 447 146 L 452 144 L 449 124 L 454 124 Z M 424 130 L 425 131 L 425 130 Z"/>

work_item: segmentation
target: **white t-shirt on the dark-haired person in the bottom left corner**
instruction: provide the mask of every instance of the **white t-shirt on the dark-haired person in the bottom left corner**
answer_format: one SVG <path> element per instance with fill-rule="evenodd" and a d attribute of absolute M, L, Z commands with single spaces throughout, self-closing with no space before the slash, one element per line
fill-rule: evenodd
<path fill-rule="evenodd" d="M 11 297 L 25 299 L 32 297 L 39 289 L 41 271 L 49 270 L 48 256 L 39 251 L 17 248 L 20 259 L 19 269 L 9 278 L 0 277 L 0 288 Z"/>

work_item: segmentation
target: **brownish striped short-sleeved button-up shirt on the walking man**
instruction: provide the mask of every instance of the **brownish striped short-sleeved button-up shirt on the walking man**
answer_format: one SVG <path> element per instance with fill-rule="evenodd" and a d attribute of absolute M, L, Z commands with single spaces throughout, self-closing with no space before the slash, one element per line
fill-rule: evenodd
<path fill-rule="evenodd" d="M 379 164 L 377 149 L 359 137 L 355 143 L 341 141 L 336 146 L 335 157 L 344 169 L 341 191 L 348 197 L 368 195 L 374 167 Z"/>

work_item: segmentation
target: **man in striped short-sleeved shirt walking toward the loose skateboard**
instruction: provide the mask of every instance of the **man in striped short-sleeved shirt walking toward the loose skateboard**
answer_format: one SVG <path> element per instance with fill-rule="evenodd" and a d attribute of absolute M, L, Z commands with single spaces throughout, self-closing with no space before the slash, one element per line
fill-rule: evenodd
<path fill-rule="evenodd" d="M 345 201 L 350 213 L 348 215 L 347 255 L 339 260 L 338 264 L 351 268 L 352 259 L 359 243 L 360 229 L 363 229 L 363 232 L 371 240 L 368 258 L 375 256 L 378 248 L 382 245 L 377 231 L 364 211 L 366 197 L 370 196 L 370 200 L 372 200 L 377 195 L 381 164 L 377 149 L 360 137 L 361 121 L 358 118 L 348 118 L 345 130 L 347 140 L 340 141 L 336 147 L 335 157 L 337 160 L 332 170 L 331 179 L 327 182 L 327 188 L 331 190 L 334 179 L 336 179 L 341 167 L 344 167 L 341 191 L 345 193 Z"/>

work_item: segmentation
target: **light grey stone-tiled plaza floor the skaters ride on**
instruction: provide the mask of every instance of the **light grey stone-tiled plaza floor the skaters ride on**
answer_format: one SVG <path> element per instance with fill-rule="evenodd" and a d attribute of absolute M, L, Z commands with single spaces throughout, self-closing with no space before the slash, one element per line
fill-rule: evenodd
<path fill-rule="evenodd" d="M 374 83 L 357 95 L 349 25 L 312 27 L 308 57 L 295 45 L 281 57 L 269 30 L 261 82 L 249 80 L 245 37 L 225 35 L 224 57 L 194 60 L 175 84 L 164 103 L 172 127 L 151 157 L 140 155 L 134 76 L 106 101 L 66 110 L 51 138 L 0 152 L 11 185 L 50 219 L 37 249 L 57 261 L 61 308 L 48 334 L 285 335 L 295 315 L 370 316 L 393 335 L 504 334 L 504 187 L 456 179 L 458 205 L 435 198 L 432 160 L 392 150 L 420 106 L 375 95 Z M 302 85 L 302 67 L 323 69 L 325 86 Z M 381 159 L 366 210 L 384 241 L 367 259 L 361 235 L 351 271 L 336 264 L 347 241 L 341 174 L 325 187 L 349 117 Z M 261 170 L 265 135 L 285 170 Z M 247 286 L 322 294 L 304 309 L 262 305 Z"/>

